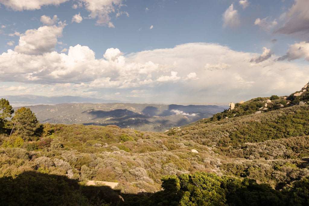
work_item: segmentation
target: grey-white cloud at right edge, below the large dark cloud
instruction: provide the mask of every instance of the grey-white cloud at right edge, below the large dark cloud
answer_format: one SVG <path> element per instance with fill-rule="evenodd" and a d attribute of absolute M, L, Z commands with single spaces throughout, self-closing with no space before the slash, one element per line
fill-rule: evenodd
<path fill-rule="evenodd" d="M 278 58 L 277 60 L 283 61 L 287 59 L 288 61 L 291 61 L 299 58 L 305 58 L 309 61 L 309 42 L 302 41 L 290 45 L 286 55 Z"/>

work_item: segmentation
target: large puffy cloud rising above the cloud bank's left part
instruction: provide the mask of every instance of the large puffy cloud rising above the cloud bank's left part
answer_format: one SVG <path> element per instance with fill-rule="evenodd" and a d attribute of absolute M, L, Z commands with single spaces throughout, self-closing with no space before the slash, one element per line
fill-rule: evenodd
<path fill-rule="evenodd" d="M 57 44 L 57 38 L 62 36 L 65 24 L 59 26 L 43 26 L 29 29 L 19 37 L 15 52 L 29 55 L 40 55 L 52 52 Z"/>

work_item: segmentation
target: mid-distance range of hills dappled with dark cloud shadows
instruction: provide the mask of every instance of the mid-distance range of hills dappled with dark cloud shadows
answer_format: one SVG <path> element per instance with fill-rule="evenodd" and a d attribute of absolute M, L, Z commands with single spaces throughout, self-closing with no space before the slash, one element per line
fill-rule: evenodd
<path fill-rule="evenodd" d="M 18 108 L 18 107 L 17 107 Z M 164 105 L 133 103 L 68 103 L 29 106 L 41 123 L 117 125 L 163 132 L 223 111 L 215 105 Z"/>

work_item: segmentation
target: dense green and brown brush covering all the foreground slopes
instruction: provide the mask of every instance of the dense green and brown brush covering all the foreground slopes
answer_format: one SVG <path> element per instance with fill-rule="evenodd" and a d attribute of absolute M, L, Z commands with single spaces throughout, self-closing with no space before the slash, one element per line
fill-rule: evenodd
<path fill-rule="evenodd" d="M 277 108 L 306 97 L 290 98 L 236 104 L 168 135 L 40 124 L 2 99 L 0 205 L 308 205 L 309 105 Z"/>

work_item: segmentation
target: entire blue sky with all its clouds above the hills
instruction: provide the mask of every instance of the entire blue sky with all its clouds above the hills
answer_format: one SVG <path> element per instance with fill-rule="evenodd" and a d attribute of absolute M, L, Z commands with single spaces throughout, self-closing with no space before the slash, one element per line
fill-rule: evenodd
<path fill-rule="evenodd" d="M 0 0 L 0 96 L 226 104 L 309 81 L 308 0 Z"/>

